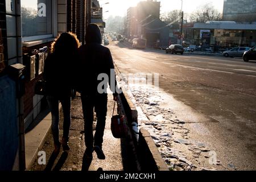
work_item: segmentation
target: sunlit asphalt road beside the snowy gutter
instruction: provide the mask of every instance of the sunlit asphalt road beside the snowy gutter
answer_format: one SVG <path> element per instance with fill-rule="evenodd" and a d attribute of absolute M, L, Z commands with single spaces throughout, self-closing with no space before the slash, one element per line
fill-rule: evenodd
<path fill-rule="evenodd" d="M 108 47 L 121 73 L 159 73 L 159 87 L 191 107 L 176 112 L 187 119 L 192 138 L 213 148 L 227 169 L 256 169 L 255 61 L 170 55 L 129 43 Z"/>

